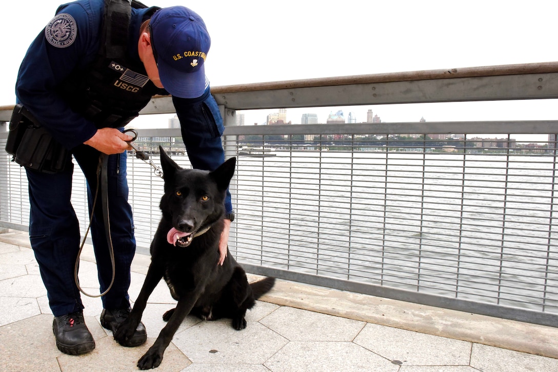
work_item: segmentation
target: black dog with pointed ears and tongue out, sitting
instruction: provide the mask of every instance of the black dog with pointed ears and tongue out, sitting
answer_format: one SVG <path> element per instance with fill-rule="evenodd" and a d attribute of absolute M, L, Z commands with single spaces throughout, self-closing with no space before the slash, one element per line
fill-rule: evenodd
<path fill-rule="evenodd" d="M 246 328 L 247 309 L 275 283 L 273 278 L 264 278 L 249 284 L 246 273 L 228 251 L 224 264 L 218 265 L 225 193 L 236 159 L 225 161 L 211 172 L 182 169 L 160 150 L 165 180 L 162 219 L 151 243 L 151 264 L 140 295 L 114 339 L 123 344 L 133 335 L 147 299 L 161 278 L 178 303 L 163 315 L 168 323 L 138 361 L 140 369 L 161 364 L 166 347 L 190 313 L 205 320 L 232 318 L 233 328 Z"/>

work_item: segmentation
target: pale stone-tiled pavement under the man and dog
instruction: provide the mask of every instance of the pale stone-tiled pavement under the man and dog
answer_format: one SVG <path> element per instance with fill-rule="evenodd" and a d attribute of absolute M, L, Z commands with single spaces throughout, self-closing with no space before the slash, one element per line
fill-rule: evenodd
<path fill-rule="evenodd" d="M 149 257 L 136 255 L 135 299 Z M 251 276 L 251 278 L 256 278 Z M 98 293 L 91 247 L 81 255 L 80 283 Z M 52 314 L 26 233 L 0 234 L 0 371 L 134 371 L 176 303 L 164 283 L 143 322 L 148 340 L 119 346 L 100 326 L 99 298 L 83 296 L 85 321 L 97 347 L 69 356 L 56 349 Z M 502 372 L 558 370 L 558 328 L 421 306 L 369 295 L 285 282 L 247 314 L 246 330 L 230 321 L 188 317 L 159 371 Z"/>

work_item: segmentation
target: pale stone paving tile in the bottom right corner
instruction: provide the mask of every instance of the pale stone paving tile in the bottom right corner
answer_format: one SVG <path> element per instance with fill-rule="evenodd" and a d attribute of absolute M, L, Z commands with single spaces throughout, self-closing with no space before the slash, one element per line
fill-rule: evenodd
<path fill-rule="evenodd" d="M 473 344 L 470 365 L 484 372 L 558 371 L 558 359 L 480 344 Z"/>

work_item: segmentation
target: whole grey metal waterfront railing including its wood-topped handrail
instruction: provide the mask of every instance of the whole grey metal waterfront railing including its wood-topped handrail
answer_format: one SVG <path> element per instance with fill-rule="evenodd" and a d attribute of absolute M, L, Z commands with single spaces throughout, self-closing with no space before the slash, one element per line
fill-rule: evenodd
<path fill-rule="evenodd" d="M 555 71 L 496 66 L 214 88 L 225 154 L 238 156 L 232 254 L 255 274 L 558 325 L 556 137 L 537 146 L 514 139 L 556 133 L 558 121 L 233 125 L 235 109 L 558 98 Z M 171 106 L 154 98 L 145 113 Z M 500 140 L 479 146 L 483 133 Z M 156 163 L 162 145 L 189 166 L 179 130 L 140 136 Z M 0 227 L 25 229 L 25 172 L 4 159 Z M 132 157 L 128 174 L 138 250 L 147 253 L 162 180 Z M 86 226 L 85 185 L 79 171 L 74 178 Z"/>

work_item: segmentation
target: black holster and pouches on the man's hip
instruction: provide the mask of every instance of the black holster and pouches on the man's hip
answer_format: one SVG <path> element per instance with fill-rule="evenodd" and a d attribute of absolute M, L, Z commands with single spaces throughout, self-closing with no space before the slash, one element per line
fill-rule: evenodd
<path fill-rule="evenodd" d="M 17 164 L 43 173 L 58 173 L 73 166 L 68 149 L 52 138 L 22 104 L 13 109 L 6 152 Z"/>

